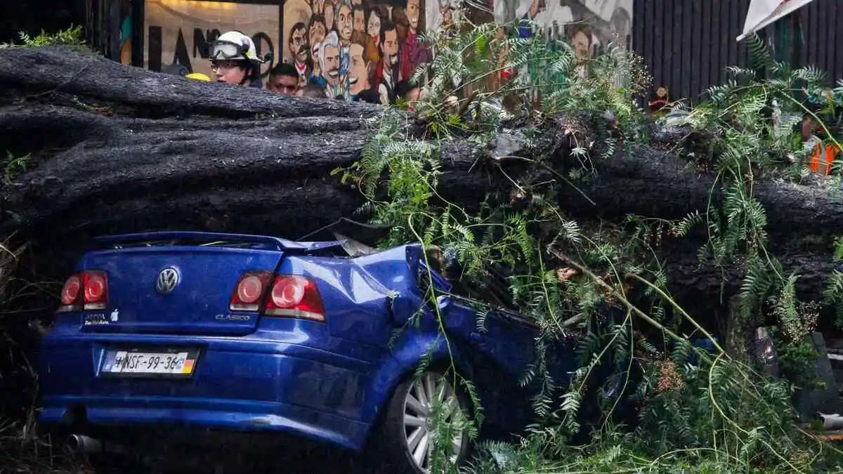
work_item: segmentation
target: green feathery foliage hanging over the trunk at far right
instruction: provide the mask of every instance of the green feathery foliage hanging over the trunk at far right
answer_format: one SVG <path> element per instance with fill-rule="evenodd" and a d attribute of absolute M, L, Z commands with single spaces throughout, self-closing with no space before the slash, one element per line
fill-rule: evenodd
<path fill-rule="evenodd" d="M 722 267 L 741 262 L 744 278 L 734 299 L 741 324 L 763 324 L 769 312 L 789 334 L 786 341 L 798 343 L 813 331 L 817 307 L 798 300 L 798 276 L 786 275 L 768 250 L 767 215 L 753 187 L 760 177 L 795 182 L 807 177 L 813 145 L 803 145 L 797 124 L 813 114 L 797 97 L 822 89 L 827 76 L 815 67 L 792 69 L 773 61 L 756 35 L 748 46 L 753 69 L 728 67 L 727 83 L 708 89 L 705 103 L 664 119 L 706 137 L 702 156 L 716 157 L 711 170 L 717 173 L 719 199 L 712 199 L 705 215 L 690 215 L 674 229 L 687 234 L 693 224 L 705 225 L 709 240 L 700 250 L 701 261 Z M 765 78 L 759 79 L 756 72 L 762 70 Z M 836 300 L 835 295 L 833 289 L 826 292 L 827 299 Z"/>

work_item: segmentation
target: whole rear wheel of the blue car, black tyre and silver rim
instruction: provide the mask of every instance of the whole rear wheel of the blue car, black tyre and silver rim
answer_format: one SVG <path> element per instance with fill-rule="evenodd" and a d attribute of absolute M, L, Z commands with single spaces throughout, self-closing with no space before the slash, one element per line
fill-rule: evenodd
<path fill-rule="evenodd" d="M 434 407 L 443 411 L 444 426 L 434 426 Z M 463 420 L 468 416 L 467 397 L 454 387 L 453 378 L 435 370 L 405 380 L 395 388 L 373 450 L 389 472 L 429 474 L 436 436 L 447 433 L 450 462 L 461 465 L 469 453 L 469 434 Z M 444 432 L 444 433 L 443 433 Z M 386 471 L 384 471 L 386 472 Z"/>

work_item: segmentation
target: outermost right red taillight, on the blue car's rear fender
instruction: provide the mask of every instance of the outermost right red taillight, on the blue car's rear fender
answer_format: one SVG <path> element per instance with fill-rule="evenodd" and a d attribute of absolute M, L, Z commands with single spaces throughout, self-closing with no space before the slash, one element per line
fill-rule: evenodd
<path fill-rule="evenodd" d="M 279 275 L 266 296 L 266 315 L 324 321 L 319 288 L 308 277 Z"/>

